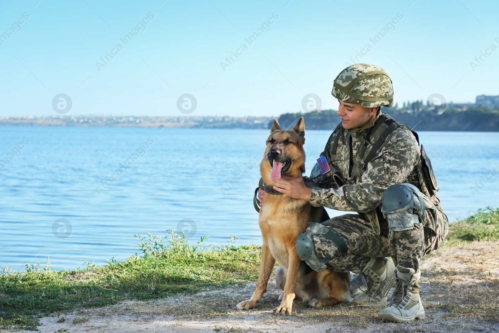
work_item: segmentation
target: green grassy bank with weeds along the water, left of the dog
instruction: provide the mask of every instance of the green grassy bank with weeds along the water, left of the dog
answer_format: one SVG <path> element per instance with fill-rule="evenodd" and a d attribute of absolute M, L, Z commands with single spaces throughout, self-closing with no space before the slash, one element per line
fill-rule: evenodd
<path fill-rule="evenodd" d="M 87 269 L 55 271 L 47 258 L 45 266 L 26 264 L 22 272 L 4 267 L 0 327 L 36 330 L 40 315 L 191 294 L 256 279 L 260 246 L 234 246 L 233 236 L 228 245 L 217 248 L 202 246 L 206 237 L 192 246 L 183 233 L 169 231 L 163 237 L 148 233 L 148 239 L 135 235 L 142 253 L 104 266 L 87 263 Z"/>

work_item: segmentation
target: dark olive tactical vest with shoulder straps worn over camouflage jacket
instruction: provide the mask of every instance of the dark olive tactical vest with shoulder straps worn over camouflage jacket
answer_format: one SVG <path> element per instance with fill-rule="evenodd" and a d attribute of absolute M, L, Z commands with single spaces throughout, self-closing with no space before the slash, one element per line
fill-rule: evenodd
<path fill-rule="evenodd" d="M 324 151 L 320 154 L 326 158 L 331 170 L 323 174 L 322 177 L 317 178 L 322 178 L 322 180 L 318 180 L 318 183 L 316 183 L 317 186 L 323 188 L 338 188 L 345 184 L 356 184 L 365 172 L 367 164 L 371 162 L 381 151 L 383 146 L 391 138 L 392 133 L 396 129 L 400 128 L 410 130 L 416 137 L 419 146 L 419 137 L 415 131 L 395 120 L 388 114 L 381 112 L 378 119 L 374 123 L 374 126 L 366 129 L 363 133 L 361 146 L 357 151 L 356 158 L 353 158 L 348 154 L 349 163 L 354 165 L 349 166 L 350 170 L 348 175 L 343 175 L 337 171 L 339 168 L 335 165 L 338 161 L 336 154 L 339 154 L 338 145 L 340 144 L 340 140 L 341 149 L 344 150 L 346 149 L 345 147 L 348 146 L 348 143 L 345 141 L 345 129 L 340 123 L 329 137 Z M 421 145 L 420 150 L 420 159 L 417 166 L 408 177 L 408 183 L 415 185 L 422 193 L 432 200 L 436 194 L 436 191 L 438 191 L 437 179 L 423 145 Z M 313 175 L 311 175 L 311 178 L 314 182 L 316 181 L 313 179 Z M 367 213 L 359 213 L 364 215 L 371 222 L 373 231 L 378 235 L 380 234 L 379 218 L 382 218 L 383 216 L 380 206 L 381 202 L 374 210 Z"/>

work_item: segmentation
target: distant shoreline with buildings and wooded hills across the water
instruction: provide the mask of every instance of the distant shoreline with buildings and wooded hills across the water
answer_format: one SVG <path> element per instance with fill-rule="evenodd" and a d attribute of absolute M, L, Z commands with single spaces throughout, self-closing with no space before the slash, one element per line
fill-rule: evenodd
<path fill-rule="evenodd" d="M 416 131 L 470 131 L 499 132 L 499 110 L 469 108 L 468 110 L 448 109 L 434 113 L 429 110 L 409 110 L 382 108 L 383 112 Z M 334 130 L 341 122 L 336 110 L 321 110 L 313 113 L 283 113 L 278 116 L 282 128 L 287 128 L 303 117 L 307 130 Z M 123 128 L 211 128 L 211 129 L 270 129 L 274 117 L 97 117 L 97 116 L 58 116 L 58 117 L 0 117 L 0 126 L 57 126 L 57 127 L 123 127 Z"/>

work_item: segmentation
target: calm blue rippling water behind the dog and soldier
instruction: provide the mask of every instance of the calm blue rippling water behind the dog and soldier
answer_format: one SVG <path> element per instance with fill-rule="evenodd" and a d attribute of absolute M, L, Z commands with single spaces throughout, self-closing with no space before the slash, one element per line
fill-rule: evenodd
<path fill-rule="evenodd" d="M 206 244 L 227 244 L 229 234 L 237 244 L 261 243 L 251 200 L 268 133 L 1 126 L 0 159 L 11 160 L 0 166 L 0 266 L 19 270 L 47 256 L 55 269 L 123 260 L 139 251 L 135 233 L 168 228 L 193 243 L 209 235 Z M 329 135 L 306 132 L 306 175 Z M 499 171 L 499 133 L 419 135 L 449 220 L 499 207 L 499 175 L 491 173 Z"/>

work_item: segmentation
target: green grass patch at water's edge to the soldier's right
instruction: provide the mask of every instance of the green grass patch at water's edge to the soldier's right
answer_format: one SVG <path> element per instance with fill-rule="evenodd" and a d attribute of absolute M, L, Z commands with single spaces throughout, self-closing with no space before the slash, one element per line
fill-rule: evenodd
<path fill-rule="evenodd" d="M 465 219 L 457 219 L 449 225 L 447 239 L 451 242 L 499 240 L 499 208 L 480 208 Z"/>

